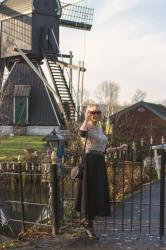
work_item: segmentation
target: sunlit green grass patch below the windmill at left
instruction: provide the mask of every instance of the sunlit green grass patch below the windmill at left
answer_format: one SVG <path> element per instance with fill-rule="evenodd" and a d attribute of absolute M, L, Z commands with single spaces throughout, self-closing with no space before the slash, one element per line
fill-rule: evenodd
<path fill-rule="evenodd" d="M 42 153 L 45 142 L 42 136 L 3 136 L 0 137 L 0 161 L 12 161 L 22 154 L 23 149 L 33 149 Z"/>

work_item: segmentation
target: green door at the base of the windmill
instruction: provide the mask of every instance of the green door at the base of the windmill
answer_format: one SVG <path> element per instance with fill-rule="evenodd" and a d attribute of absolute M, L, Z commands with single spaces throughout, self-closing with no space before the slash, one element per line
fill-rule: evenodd
<path fill-rule="evenodd" d="M 15 97 L 15 124 L 27 123 L 27 97 Z"/>

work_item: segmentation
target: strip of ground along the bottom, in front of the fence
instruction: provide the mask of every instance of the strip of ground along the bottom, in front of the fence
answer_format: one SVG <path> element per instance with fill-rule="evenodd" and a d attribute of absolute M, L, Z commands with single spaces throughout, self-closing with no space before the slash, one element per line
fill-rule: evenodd
<path fill-rule="evenodd" d="M 68 234 L 55 237 L 46 236 L 41 239 L 28 239 L 18 242 L 17 250 L 31 249 L 55 249 L 55 250 L 166 250 L 166 239 L 160 240 L 159 237 L 149 235 L 119 234 L 119 233 L 100 233 L 97 232 L 98 240 L 91 240 L 81 233 L 77 236 Z"/>

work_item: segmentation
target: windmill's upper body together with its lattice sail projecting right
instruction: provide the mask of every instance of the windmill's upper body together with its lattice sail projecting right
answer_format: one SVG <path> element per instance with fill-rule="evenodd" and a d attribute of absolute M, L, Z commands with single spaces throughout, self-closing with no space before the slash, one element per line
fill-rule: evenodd
<path fill-rule="evenodd" d="M 59 0 L 5 0 L 0 4 L 0 57 L 17 56 L 15 44 L 28 54 L 42 57 L 44 50 L 58 56 L 59 25 L 90 30 L 92 19 L 93 9 Z"/>

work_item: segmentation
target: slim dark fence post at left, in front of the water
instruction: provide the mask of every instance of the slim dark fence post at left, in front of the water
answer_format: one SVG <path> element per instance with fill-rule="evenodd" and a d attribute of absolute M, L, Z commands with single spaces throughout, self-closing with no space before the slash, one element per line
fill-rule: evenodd
<path fill-rule="evenodd" d="M 20 156 L 18 156 L 18 171 L 19 171 L 19 186 L 20 186 L 20 202 L 21 202 L 21 231 L 25 232 L 25 210 L 24 210 L 24 193 L 23 193 L 23 183 L 22 183 L 22 167 Z"/>

